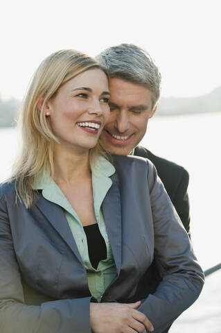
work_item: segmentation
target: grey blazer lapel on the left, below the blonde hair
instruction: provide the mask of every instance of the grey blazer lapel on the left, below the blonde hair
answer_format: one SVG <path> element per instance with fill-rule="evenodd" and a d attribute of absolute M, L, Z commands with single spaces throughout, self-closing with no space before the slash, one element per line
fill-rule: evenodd
<path fill-rule="evenodd" d="M 69 223 L 65 218 L 64 211 L 55 203 L 51 203 L 51 201 L 46 200 L 42 195 L 39 195 L 39 200 L 35 203 L 35 205 L 39 208 L 39 210 L 46 216 L 46 219 L 53 225 L 55 230 L 60 234 L 62 239 L 69 245 L 73 253 L 76 255 L 80 264 L 83 265 L 80 253 L 78 251 L 78 246 L 76 245 L 76 241 L 73 238 L 73 234 L 71 233 L 71 229 L 69 228 Z"/>

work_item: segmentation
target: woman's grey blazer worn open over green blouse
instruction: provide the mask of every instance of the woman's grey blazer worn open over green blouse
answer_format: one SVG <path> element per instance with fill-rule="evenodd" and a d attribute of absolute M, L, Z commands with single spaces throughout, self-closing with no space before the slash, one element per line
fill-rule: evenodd
<path fill-rule="evenodd" d="M 204 275 L 153 164 L 114 156 L 103 214 L 117 268 L 102 302 L 130 302 L 163 330 L 199 296 Z M 145 175 L 145 178 L 143 177 Z M 153 258 L 161 274 L 148 295 L 142 277 Z M 36 191 L 30 210 L 15 185 L 0 187 L 0 332 L 89 333 L 87 275 L 61 207 Z"/>

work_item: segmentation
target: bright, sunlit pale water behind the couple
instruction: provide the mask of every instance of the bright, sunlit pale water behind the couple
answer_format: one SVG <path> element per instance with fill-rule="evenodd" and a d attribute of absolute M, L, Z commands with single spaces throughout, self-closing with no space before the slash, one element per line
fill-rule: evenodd
<path fill-rule="evenodd" d="M 221 262 L 221 113 L 154 117 L 141 144 L 190 173 L 191 237 L 203 269 Z M 15 128 L 0 130 L 0 181 L 10 173 L 19 142 Z M 221 332 L 221 271 L 206 278 L 202 296 L 173 325 L 171 333 Z"/>

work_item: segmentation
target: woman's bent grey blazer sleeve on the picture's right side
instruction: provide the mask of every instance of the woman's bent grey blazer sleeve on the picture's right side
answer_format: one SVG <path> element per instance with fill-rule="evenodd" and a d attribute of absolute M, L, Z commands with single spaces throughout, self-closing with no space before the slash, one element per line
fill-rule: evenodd
<path fill-rule="evenodd" d="M 154 325 L 154 333 L 161 333 L 200 295 L 204 274 L 153 164 L 148 164 L 154 259 L 162 280 L 157 290 L 142 300 L 139 310 Z"/>

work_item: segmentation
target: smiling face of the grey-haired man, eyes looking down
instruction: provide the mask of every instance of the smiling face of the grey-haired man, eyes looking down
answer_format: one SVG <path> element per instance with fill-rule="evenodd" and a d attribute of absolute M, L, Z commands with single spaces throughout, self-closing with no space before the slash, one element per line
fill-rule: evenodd
<path fill-rule="evenodd" d="M 111 78 L 109 84 L 111 115 L 100 137 L 107 151 L 128 155 L 136 147 L 157 107 L 152 110 L 152 92 L 121 78 Z"/>

